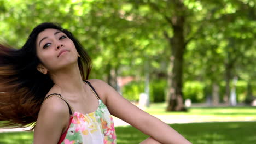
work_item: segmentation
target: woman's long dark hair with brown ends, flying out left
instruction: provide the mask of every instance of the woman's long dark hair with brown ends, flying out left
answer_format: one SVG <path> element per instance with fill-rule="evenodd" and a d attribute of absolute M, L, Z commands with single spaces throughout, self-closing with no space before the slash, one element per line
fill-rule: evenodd
<path fill-rule="evenodd" d="M 37 70 L 40 59 L 36 55 L 36 39 L 44 29 L 62 31 L 71 39 L 80 57 L 78 66 L 82 79 L 86 80 L 92 67 L 91 59 L 83 46 L 67 29 L 56 23 L 45 22 L 33 29 L 21 49 L 0 44 L 0 121 L 3 125 L 27 127 L 38 117 L 45 95 L 54 83 L 49 75 Z"/>

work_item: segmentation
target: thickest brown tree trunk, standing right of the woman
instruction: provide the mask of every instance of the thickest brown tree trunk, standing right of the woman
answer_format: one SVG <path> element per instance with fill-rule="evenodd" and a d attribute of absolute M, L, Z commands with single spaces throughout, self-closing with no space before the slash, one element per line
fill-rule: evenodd
<path fill-rule="evenodd" d="M 174 4 L 177 12 L 171 19 L 173 37 L 169 41 L 172 54 L 170 57 L 171 71 L 168 73 L 168 81 L 171 87 L 168 89 L 167 111 L 185 111 L 182 94 L 183 55 L 186 48 L 184 39 L 185 13 L 184 5 L 181 1 L 174 1 Z"/>

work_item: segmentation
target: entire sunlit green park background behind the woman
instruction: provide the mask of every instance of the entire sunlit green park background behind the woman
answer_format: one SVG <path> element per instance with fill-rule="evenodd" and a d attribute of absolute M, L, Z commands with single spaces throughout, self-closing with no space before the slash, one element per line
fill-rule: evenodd
<path fill-rule="evenodd" d="M 0 0 L 0 41 L 20 49 L 39 23 L 60 23 L 92 58 L 90 79 L 108 82 L 133 104 L 173 124 L 191 142 L 253 143 L 255 4 L 255 0 Z M 118 143 L 146 139 L 114 119 L 120 126 Z M 5 144 L 31 143 L 33 136 L 25 132 L 0 137 Z"/>

